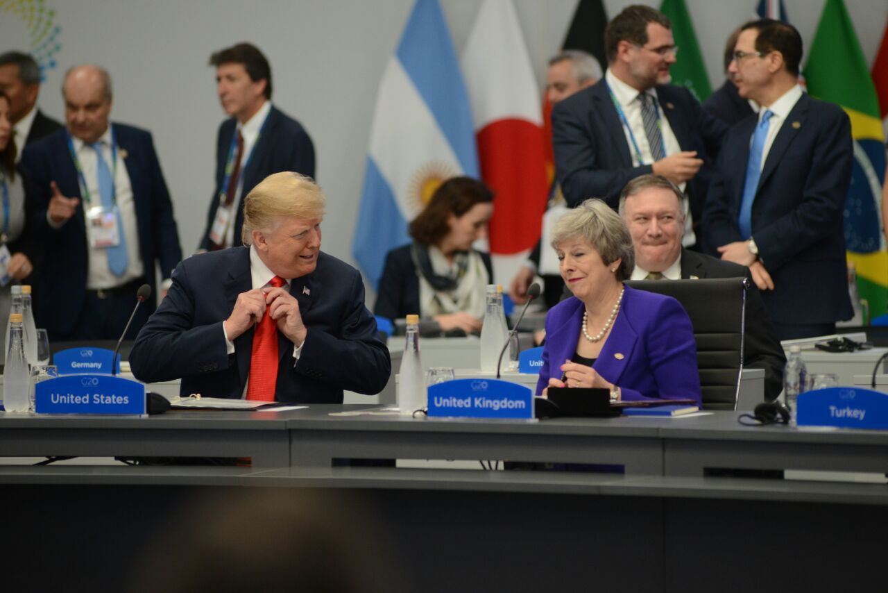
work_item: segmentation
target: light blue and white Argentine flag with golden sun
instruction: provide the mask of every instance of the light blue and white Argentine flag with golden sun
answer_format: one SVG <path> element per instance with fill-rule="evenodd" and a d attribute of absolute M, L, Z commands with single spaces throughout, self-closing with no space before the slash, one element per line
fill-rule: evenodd
<path fill-rule="evenodd" d="M 438 0 L 416 0 L 385 68 L 352 252 L 377 286 L 408 221 L 455 175 L 478 177 L 472 113 Z"/>

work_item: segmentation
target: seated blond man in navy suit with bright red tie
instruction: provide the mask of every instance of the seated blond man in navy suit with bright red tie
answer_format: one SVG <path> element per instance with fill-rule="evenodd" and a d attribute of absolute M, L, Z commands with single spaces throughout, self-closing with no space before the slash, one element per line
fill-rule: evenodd
<path fill-rule="evenodd" d="M 181 393 L 341 404 L 374 394 L 392 371 L 361 274 L 321 252 L 326 199 L 280 172 L 244 200 L 249 247 L 182 261 L 130 354 L 141 381 L 181 378 Z"/>

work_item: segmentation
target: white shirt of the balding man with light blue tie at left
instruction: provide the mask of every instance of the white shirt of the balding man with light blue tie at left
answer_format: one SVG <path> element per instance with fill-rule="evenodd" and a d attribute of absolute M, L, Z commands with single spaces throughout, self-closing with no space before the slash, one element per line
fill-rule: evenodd
<path fill-rule="evenodd" d="M 115 175 L 115 203 L 120 208 L 120 218 L 123 222 L 123 236 L 126 243 L 128 265 L 123 276 L 115 276 L 108 269 L 107 252 L 102 247 L 91 247 L 91 228 L 86 225 L 86 248 L 88 253 L 88 269 L 86 272 L 86 287 L 90 290 L 99 290 L 102 288 L 115 288 L 132 282 L 133 280 L 145 277 L 145 266 L 142 264 L 141 252 L 139 252 L 139 224 L 136 221 L 136 204 L 132 199 L 132 186 L 130 183 L 130 173 L 126 170 L 126 151 L 121 150 L 118 146 L 116 166 L 111 164 L 111 126 L 99 138 L 102 145 L 102 156 L 108 164 L 108 168 Z M 81 196 L 83 196 L 83 212 L 89 212 L 91 206 L 101 205 L 101 194 L 99 194 L 99 175 L 96 171 L 96 151 L 79 138 L 74 139 L 74 151 L 80 166 L 83 169 L 83 179 L 86 180 L 86 189 L 89 190 L 91 202 L 86 201 L 87 194 L 81 187 Z M 78 183 L 82 183 L 78 175 Z M 47 213 L 47 216 L 49 214 Z M 63 224 L 70 224 L 67 220 Z M 60 226 L 60 225 L 59 225 Z M 59 228 L 57 226 L 57 228 Z M 154 272 L 154 270 L 151 270 Z"/>

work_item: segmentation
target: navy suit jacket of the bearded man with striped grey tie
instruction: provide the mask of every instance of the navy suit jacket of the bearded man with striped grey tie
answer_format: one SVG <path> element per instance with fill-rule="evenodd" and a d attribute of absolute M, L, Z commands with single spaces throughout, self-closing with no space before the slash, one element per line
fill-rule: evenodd
<path fill-rule="evenodd" d="M 699 222 L 712 160 L 718 156 L 727 126 L 704 112 L 686 88 L 664 84 L 656 92 L 678 145 L 682 150 L 696 150 L 704 160 L 686 188 L 691 214 Z M 599 197 L 616 209 L 622 188 L 639 175 L 653 172 L 650 164 L 632 166 L 630 147 L 603 78 L 552 109 L 552 142 L 561 191 L 572 207 Z"/>

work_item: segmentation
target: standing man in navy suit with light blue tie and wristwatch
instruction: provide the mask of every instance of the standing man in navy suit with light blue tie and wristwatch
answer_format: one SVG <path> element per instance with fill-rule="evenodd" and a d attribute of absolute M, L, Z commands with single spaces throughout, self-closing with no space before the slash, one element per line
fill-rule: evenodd
<path fill-rule="evenodd" d="M 730 72 L 761 108 L 728 133 L 703 218 L 707 244 L 749 266 L 781 340 L 834 333 L 852 317 L 843 235 L 851 124 L 802 91 L 801 60 L 791 25 L 742 27 Z"/>

